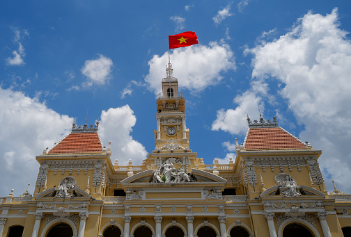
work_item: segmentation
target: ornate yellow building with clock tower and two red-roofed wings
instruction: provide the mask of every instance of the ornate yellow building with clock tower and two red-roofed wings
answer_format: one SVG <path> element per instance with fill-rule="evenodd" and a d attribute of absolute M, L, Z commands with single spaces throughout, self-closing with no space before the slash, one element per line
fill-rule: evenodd
<path fill-rule="evenodd" d="M 111 162 L 95 126 L 45 149 L 33 195 L 0 198 L 0 237 L 351 236 L 351 195 L 327 193 L 322 153 L 273 120 L 248 120 L 235 160 L 206 165 L 189 144 L 171 64 L 157 95 L 155 149 Z M 150 134 L 151 136 L 151 134 Z"/>

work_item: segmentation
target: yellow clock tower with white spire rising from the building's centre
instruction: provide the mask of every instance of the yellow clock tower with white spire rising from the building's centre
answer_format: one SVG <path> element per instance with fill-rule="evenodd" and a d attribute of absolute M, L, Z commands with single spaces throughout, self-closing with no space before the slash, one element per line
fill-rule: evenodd
<path fill-rule="evenodd" d="M 189 148 L 185 97 L 178 91 L 178 80 L 173 76 L 171 63 L 167 65 L 166 78 L 162 79 L 162 92 L 157 95 L 156 106 L 155 149 L 148 156 L 151 160 L 155 159 L 157 166 L 167 159 L 176 159 L 189 172 L 196 167 L 194 162 L 200 163 L 200 159 Z"/>

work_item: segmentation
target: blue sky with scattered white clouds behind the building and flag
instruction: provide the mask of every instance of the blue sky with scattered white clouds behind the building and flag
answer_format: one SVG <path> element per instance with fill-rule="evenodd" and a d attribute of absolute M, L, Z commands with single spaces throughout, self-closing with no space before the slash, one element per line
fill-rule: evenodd
<path fill-rule="evenodd" d="M 247 115 L 313 148 L 320 167 L 351 193 L 350 1 L 1 1 L 1 195 L 36 181 L 35 156 L 72 122 L 100 120 L 112 160 L 141 164 L 154 149 L 155 95 L 166 76 L 168 35 L 185 94 L 190 148 L 205 163 L 235 158 Z M 22 173 L 22 176 L 18 174 Z"/>

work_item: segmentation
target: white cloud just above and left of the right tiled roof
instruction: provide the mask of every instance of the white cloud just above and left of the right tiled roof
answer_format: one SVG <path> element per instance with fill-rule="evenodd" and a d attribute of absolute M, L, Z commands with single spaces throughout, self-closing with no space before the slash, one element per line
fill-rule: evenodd
<path fill-rule="evenodd" d="M 247 115 L 258 113 L 260 97 L 255 92 L 247 91 L 243 95 L 235 97 L 234 102 L 238 104 L 235 109 L 217 111 L 217 119 L 212 123 L 213 131 L 227 131 L 231 134 L 240 134 L 247 131 Z M 260 109 L 264 109 L 264 104 L 260 104 Z"/>

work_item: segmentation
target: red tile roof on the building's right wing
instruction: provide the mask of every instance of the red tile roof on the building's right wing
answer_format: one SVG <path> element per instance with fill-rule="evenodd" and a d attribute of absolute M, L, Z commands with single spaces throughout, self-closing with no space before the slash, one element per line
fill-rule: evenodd
<path fill-rule="evenodd" d="M 306 149 L 306 145 L 281 127 L 249 129 L 245 149 Z"/>

